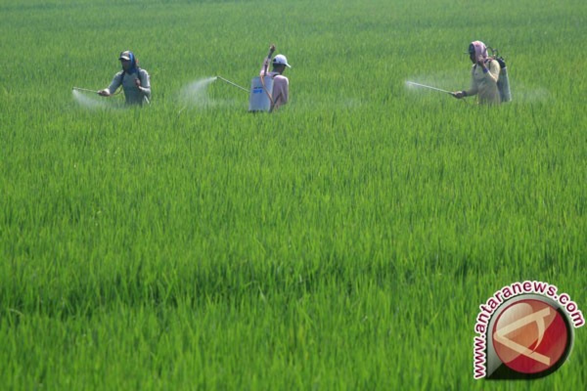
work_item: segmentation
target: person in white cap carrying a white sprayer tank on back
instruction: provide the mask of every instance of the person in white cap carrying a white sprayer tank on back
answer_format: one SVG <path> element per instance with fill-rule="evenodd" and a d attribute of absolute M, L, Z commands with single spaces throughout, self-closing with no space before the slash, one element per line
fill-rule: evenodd
<path fill-rule="evenodd" d="M 249 111 L 274 111 L 289 100 L 289 80 L 283 75 L 285 68 L 291 68 L 284 55 L 276 55 L 271 61 L 273 70 L 268 72 L 269 61 L 275 52 L 275 45 L 269 47 L 269 54 L 261 67 L 259 77 L 251 82 Z"/>

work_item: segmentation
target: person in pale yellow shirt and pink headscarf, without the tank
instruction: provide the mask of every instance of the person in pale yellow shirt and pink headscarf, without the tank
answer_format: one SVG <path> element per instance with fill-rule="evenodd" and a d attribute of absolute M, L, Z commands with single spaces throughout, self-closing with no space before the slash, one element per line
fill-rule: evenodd
<path fill-rule="evenodd" d="M 457 99 L 477 95 L 481 104 L 501 103 L 497 80 L 500 77 L 500 64 L 487 56 L 487 47 L 481 41 L 473 41 L 468 50 L 473 69 L 471 70 L 471 87 L 468 90 L 456 91 Z"/>

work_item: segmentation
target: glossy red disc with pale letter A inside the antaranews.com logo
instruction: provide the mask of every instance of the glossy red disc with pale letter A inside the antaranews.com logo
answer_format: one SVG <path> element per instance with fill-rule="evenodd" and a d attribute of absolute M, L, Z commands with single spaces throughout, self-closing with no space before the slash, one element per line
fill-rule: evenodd
<path fill-rule="evenodd" d="M 501 312 L 492 331 L 500 360 L 520 373 L 552 368 L 566 351 L 569 333 L 565 319 L 541 300 L 527 299 Z"/>

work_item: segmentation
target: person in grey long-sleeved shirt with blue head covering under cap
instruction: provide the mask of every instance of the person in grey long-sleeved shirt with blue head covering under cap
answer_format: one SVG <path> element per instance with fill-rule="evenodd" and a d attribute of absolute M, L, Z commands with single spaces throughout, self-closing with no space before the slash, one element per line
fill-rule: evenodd
<path fill-rule="evenodd" d="M 139 60 L 130 50 L 120 53 L 122 71 L 114 75 L 112 83 L 107 89 L 98 91 L 101 96 L 112 96 L 114 91 L 122 85 L 124 98 L 127 104 L 149 103 L 151 84 L 149 73 L 139 67 Z"/>

